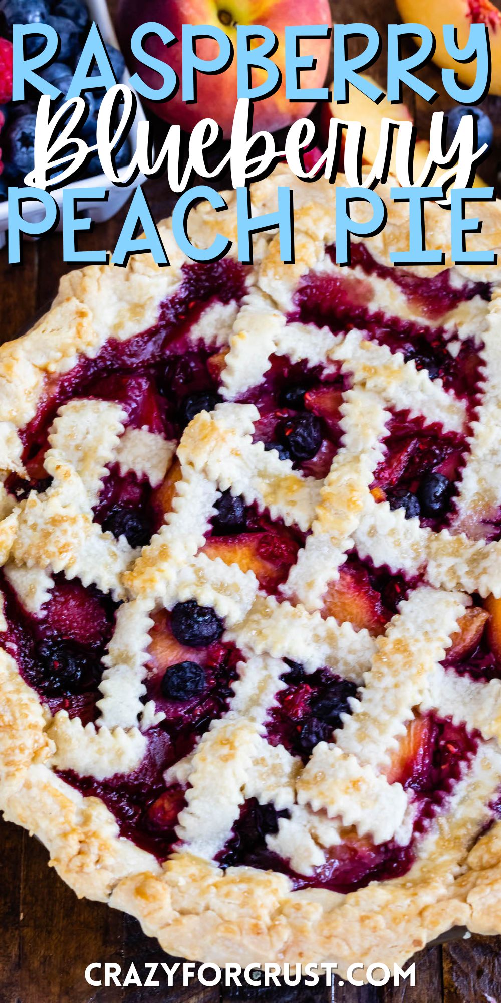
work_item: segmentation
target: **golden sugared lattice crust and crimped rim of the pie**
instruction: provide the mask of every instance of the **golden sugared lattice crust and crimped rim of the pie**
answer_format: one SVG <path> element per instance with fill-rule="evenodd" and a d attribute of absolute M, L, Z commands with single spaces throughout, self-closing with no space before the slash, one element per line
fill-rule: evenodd
<path fill-rule="evenodd" d="M 260 212 L 275 208 L 277 185 L 281 183 L 294 189 L 296 265 L 282 264 L 277 237 L 264 234 L 256 239 L 252 292 L 227 336 L 226 402 L 210 415 L 199 415 L 188 427 L 179 448 L 184 467 L 176 484 L 179 505 L 173 507 L 169 520 L 142 555 L 138 557 L 116 543 L 92 522 L 92 499 L 111 457 L 118 456 L 120 461 L 121 456 L 121 462 L 132 468 L 136 463 L 140 475 L 145 469 L 146 473 L 153 470 L 151 476 L 161 477 L 152 461 L 144 466 L 144 437 L 140 449 L 132 448 L 129 442 L 117 453 L 123 425 L 116 410 L 79 407 L 78 421 L 85 420 L 90 441 L 96 429 L 107 429 L 98 434 L 96 447 L 87 452 L 78 448 L 75 422 L 69 420 L 71 412 L 65 412 L 65 421 L 57 420 L 47 460 L 53 485 L 41 500 L 31 495 L 26 503 L 12 506 L 1 487 L 0 560 L 9 562 L 11 579 L 24 590 L 32 611 L 36 613 L 43 606 L 50 574 L 56 571 L 68 577 L 77 575 L 84 584 L 95 582 L 117 598 L 128 599 L 117 619 L 101 684 L 101 720 L 96 728 L 101 748 L 107 750 L 99 751 L 101 756 L 116 755 L 112 762 L 132 768 L 134 756 L 140 756 L 143 748 L 136 725 L 147 731 L 155 719 L 154 707 L 140 701 L 153 623 L 150 614 L 155 607 L 169 608 L 176 600 L 195 597 L 202 605 L 213 605 L 226 620 L 228 637 L 241 642 L 246 669 L 245 665 L 240 667 L 231 713 L 213 723 L 189 762 L 174 767 L 184 769 L 190 783 L 187 807 L 179 818 L 186 849 L 160 867 L 151 855 L 119 835 L 114 817 L 100 800 L 83 798 L 55 775 L 53 766 L 61 764 L 61 743 L 66 743 L 66 750 L 71 748 L 72 756 L 63 762 L 70 761 L 77 771 L 84 772 L 95 753 L 95 734 L 91 728 L 83 740 L 76 734 L 78 725 L 72 725 L 67 717 L 51 718 L 21 679 L 12 657 L 3 651 L 1 799 L 5 816 L 44 842 L 52 866 L 77 895 L 107 901 L 136 916 L 145 933 L 156 936 L 166 951 L 217 963 L 336 960 L 344 972 L 354 960 L 403 963 L 455 925 L 486 934 L 501 932 L 501 823 L 494 823 L 477 839 L 492 820 L 488 804 L 501 783 L 501 752 L 496 735 L 487 733 L 481 701 L 468 701 L 464 709 L 464 690 L 448 694 L 447 712 L 479 728 L 483 737 L 473 764 L 456 785 L 447 813 L 439 816 L 421 842 L 418 858 L 404 878 L 372 883 L 346 896 L 308 887 L 295 891 L 286 875 L 245 867 L 223 872 L 203 859 L 203 853 L 208 845 L 211 852 L 218 848 L 217 825 L 221 826 L 228 807 L 230 830 L 242 799 L 260 793 L 265 797 L 265 792 L 276 803 L 291 806 L 291 818 L 281 825 L 277 846 L 288 847 L 291 859 L 297 854 L 303 863 L 309 854 L 311 864 L 319 855 L 325 860 L 326 848 L 342 824 L 355 826 L 359 835 L 369 832 L 375 842 L 394 835 L 405 839 L 406 825 L 412 821 L 412 803 L 400 784 L 390 784 L 385 775 L 394 734 L 412 716 L 413 707 L 425 706 L 426 701 L 435 706 L 430 703 L 430 687 L 441 683 L 437 665 L 467 601 L 455 590 L 500 594 L 499 548 L 489 545 L 489 550 L 481 541 L 467 537 L 431 534 L 421 530 L 416 521 L 400 519 L 388 506 L 373 505 L 369 484 L 380 458 L 387 408 L 401 407 L 412 395 L 417 413 L 423 410 L 430 420 L 440 420 L 451 430 L 464 426 L 464 408 L 425 374 L 396 361 L 379 346 L 364 342 L 357 332 L 352 332 L 350 341 L 347 337 L 341 343 L 321 331 L 309 331 L 305 340 L 301 325 L 291 324 L 286 329 L 283 314 L 290 309 L 301 276 L 308 269 L 330 267 L 325 246 L 335 239 L 335 213 L 333 187 L 324 181 L 301 184 L 282 168 L 253 188 L 253 203 Z M 387 197 L 388 190 L 383 194 Z M 233 194 L 226 195 L 226 200 L 230 209 L 225 214 L 216 215 L 202 204 L 191 215 L 190 233 L 195 243 L 207 246 L 216 231 L 235 240 Z M 374 256 L 384 263 L 389 263 L 390 251 L 407 246 L 405 207 L 389 203 L 388 208 L 387 227 L 370 245 Z M 486 206 L 483 215 L 483 234 L 472 237 L 471 246 L 501 245 L 499 208 Z M 426 218 L 429 246 L 447 248 L 448 214 L 428 204 Z M 42 395 L 50 393 L 54 377 L 71 369 L 79 355 L 94 356 L 107 339 L 125 340 L 154 326 L 160 303 L 181 280 L 183 264 L 169 224 L 160 230 L 170 269 L 157 268 L 150 256 L 138 256 L 124 270 L 96 267 L 71 273 L 62 280 L 58 297 L 42 321 L 24 338 L 0 348 L 0 430 L 6 443 L 0 463 L 4 477 L 9 471 L 19 471 L 18 429 L 33 417 Z M 235 254 L 234 245 L 231 253 Z M 420 271 L 431 275 L 437 270 Z M 468 268 L 455 273 L 458 281 L 479 278 L 477 271 Z M 484 270 L 482 278 L 497 281 L 491 269 Z M 397 288 L 389 290 L 376 282 L 374 296 L 398 315 L 416 316 L 414 306 L 409 307 Z M 457 326 L 464 337 L 477 326 L 477 333 L 485 338 L 484 361 L 493 374 L 499 368 L 494 337 L 497 296 L 489 308 L 484 303 L 462 304 L 445 318 L 446 326 Z M 418 314 L 418 319 L 427 323 L 425 316 Z M 239 392 L 242 372 L 249 379 L 252 369 L 255 382 L 259 382 L 273 352 L 314 362 L 317 358 L 344 359 L 353 374 L 353 388 L 343 405 L 343 449 L 322 487 L 253 442 L 256 409 L 231 404 Z M 497 397 L 488 399 L 484 406 L 490 409 L 483 428 L 494 422 L 497 431 Z M 494 504 L 497 476 L 492 471 L 497 471 L 499 435 L 496 441 L 491 440 L 486 444 L 482 434 L 474 431 L 476 482 L 473 487 L 466 479 L 463 483 L 458 515 L 461 529 L 478 522 L 479 493 L 487 493 L 489 505 Z M 154 443 L 148 440 L 146 444 L 148 449 L 151 445 L 154 455 Z M 172 448 L 162 441 L 160 451 L 164 471 L 172 459 Z M 312 530 L 296 578 L 291 578 L 289 592 L 286 587 L 285 601 L 280 604 L 258 594 L 252 573 L 209 561 L 199 553 L 217 496 L 216 486 L 224 489 L 225 477 L 235 493 L 269 507 L 272 515 L 281 516 L 286 523 Z M 494 484 L 492 497 L 487 490 L 488 477 Z M 383 541 L 388 564 L 393 561 L 396 568 L 404 567 L 410 574 L 419 571 L 425 581 L 414 593 L 412 609 L 408 604 L 408 616 L 404 611 L 396 617 L 388 636 L 378 642 L 367 631 L 355 632 L 350 624 L 340 626 L 333 618 L 323 620 L 318 612 L 327 584 L 322 569 L 336 568 L 353 540 L 361 553 L 377 563 L 375 538 Z M 424 647 L 419 646 L 418 638 L 425 639 Z M 336 745 L 317 746 L 305 770 L 285 750 L 284 754 L 270 751 L 262 736 L 264 714 L 270 706 L 267 700 L 280 686 L 282 659 L 291 657 L 304 661 L 311 670 L 319 664 L 336 664 L 342 674 L 350 671 L 357 681 L 365 679 L 366 692 L 371 691 L 374 701 L 372 711 L 363 699 L 355 701 L 350 727 L 338 730 Z M 398 669 L 400 686 L 395 685 Z M 121 701 L 124 679 L 127 699 Z M 489 699 L 493 697 L 499 699 L 497 691 L 490 690 Z M 388 719 L 378 718 L 378 700 L 383 711 L 391 706 Z M 438 706 L 442 708 L 441 703 Z M 366 763 L 363 753 L 368 753 L 369 746 L 371 756 Z M 333 757 L 337 766 L 331 771 Z M 354 790 L 363 792 L 364 784 L 367 796 L 359 816 Z M 217 796 L 222 787 L 224 798 L 219 805 Z M 202 831 L 200 818 L 207 792 L 216 805 L 213 814 L 217 824 Z M 389 792 L 394 824 L 390 832 L 384 816 L 384 798 Z M 221 831 L 226 830 L 227 825 L 224 828 L 222 824 Z M 199 854 L 193 853 L 193 848 L 198 848 Z M 304 873 L 311 871 L 306 868 Z"/>

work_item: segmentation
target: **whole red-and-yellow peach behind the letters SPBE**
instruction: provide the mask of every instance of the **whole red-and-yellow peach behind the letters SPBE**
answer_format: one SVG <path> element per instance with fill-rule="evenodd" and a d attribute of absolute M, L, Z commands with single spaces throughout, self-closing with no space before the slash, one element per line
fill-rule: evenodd
<path fill-rule="evenodd" d="M 234 56 L 230 65 L 217 76 L 197 74 L 196 101 L 186 104 L 182 100 L 182 87 L 167 101 L 154 102 L 152 110 L 168 122 L 181 125 L 190 131 L 201 118 L 213 116 L 222 128 L 225 138 L 231 133 L 231 125 L 236 105 L 236 26 L 262 24 L 271 28 L 278 38 L 278 49 L 274 61 L 282 70 L 282 83 L 275 94 L 254 103 L 254 130 L 267 129 L 274 132 L 290 125 L 297 118 L 308 115 L 313 108 L 312 101 L 292 102 L 286 98 L 285 73 L 285 26 L 288 24 L 331 24 L 332 15 L 329 0 L 309 0 L 307 5 L 301 0 L 148 0 L 147 18 L 145 6 L 137 0 L 121 0 L 118 12 L 118 33 L 122 49 L 129 55 L 132 69 L 137 70 L 141 79 L 157 88 L 159 74 L 134 60 L 130 54 L 130 39 L 135 29 L 144 20 L 158 21 L 181 38 L 183 24 L 209 24 L 222 28 L 233 44 Z M 168 63 L 182 78 L 181 43 L 177 41 L 167 48 L 157 35 L 151 35 L 144 48 L 157 59 Z M 196 43 L 197 55 L 202 59 L 213 59 L 218 55 L 219 46 L 212 38 L 201 38 Z M 324 84 L 329 65 L 330 42 L 327 38 L 305 39 L 300 43 L 301 55 L 313 55 L 317 60 L 314 70 L 302 74 L 305 87 L 321 87 Z M 265 79 L 263 70 L 252 70 L 253 86 Z"/>

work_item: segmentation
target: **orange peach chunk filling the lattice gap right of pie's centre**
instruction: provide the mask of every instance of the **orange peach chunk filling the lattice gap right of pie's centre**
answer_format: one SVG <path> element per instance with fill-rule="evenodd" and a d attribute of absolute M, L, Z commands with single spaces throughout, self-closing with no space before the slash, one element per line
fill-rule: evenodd
<path fill-rule="evenodd" d="M 321 610 L 323 617 L 338 623 L 349 621 L 371 634 L 382 634 L 388 622 L 381 596 L 373 589 L 365 568 L 342 568 L 336 582 L 328 586 Z"/>

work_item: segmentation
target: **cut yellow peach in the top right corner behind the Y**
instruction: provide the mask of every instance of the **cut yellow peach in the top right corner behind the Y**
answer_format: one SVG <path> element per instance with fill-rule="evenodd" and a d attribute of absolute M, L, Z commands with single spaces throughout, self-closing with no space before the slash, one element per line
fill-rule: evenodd
<path fill-rule="evenodd" d="M 490 0 L 397 0 L 397 8 L 404 21 L 411 24 L 419 21 L 426 24 L 435 35 L 437 45 L 433 56 L 435 62 L 458 75 L 461 83 L 471 84 L 477 73 L 477 60 L 458 63 L 447 52 L 444 45 L 444 24 L 453 24 L 457 34 L 457 44 L 463 48 L 470 34 L 471 24 L 486 24 L 492 53 L 491 94 L 501 94 L 501 12 Z"/>

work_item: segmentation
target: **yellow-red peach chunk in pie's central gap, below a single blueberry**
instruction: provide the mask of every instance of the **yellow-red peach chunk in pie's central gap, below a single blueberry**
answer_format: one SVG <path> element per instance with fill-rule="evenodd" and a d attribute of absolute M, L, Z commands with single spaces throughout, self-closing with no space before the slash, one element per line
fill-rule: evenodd
<path fill-rule="evenodd" d="M 299 545 L 285 532 L 239 533 L 235 537 L 209 537 L 203 553 L 254 571 L 261 587 L 273 591 L 296 563 Z"/>

